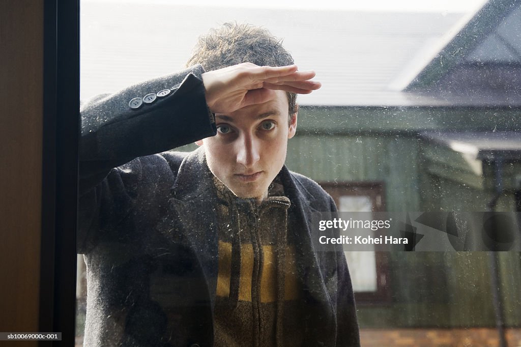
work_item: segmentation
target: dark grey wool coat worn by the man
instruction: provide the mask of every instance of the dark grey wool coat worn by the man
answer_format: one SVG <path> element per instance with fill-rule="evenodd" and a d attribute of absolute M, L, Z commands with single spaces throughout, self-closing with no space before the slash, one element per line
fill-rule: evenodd
<path fill-rule="evenodd" d="M 82 110 L 78 252 L 87 266 L 85 345 L 212 345 L 218 270 L 212 173 L 202 148 L 152 154 L 215 135 L 196 77 L 202 72 L 195 66 L 96 98 Z M 165 88 L 171 93 L 152 104 L 128 106 L 135 96 Z M 303 340 L 358 346 L 344 254 L 317 252 L 310 231 L 312 212 L 336 207 L 311 179 L 286 167 L 279 177 L 291 201 L 288 237 L 306 307 Z"/>

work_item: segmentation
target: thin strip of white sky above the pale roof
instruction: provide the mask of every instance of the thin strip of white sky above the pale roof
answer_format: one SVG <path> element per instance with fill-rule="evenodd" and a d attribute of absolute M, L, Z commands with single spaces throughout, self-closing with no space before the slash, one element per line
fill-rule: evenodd
<path fill-rule="evenodd" d="M 420 11 L 469 13 L 479 9 L 486 0 L 81 0 L 82 2 L 117 2 L 151 4 L 200 5 L 222 7 L 261 7 L 299 9 L 340 9 L 366 11 Z"/>

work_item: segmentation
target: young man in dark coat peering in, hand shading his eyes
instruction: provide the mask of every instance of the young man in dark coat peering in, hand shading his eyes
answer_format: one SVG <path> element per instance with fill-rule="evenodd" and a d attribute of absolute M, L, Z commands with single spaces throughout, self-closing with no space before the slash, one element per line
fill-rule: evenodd
<path fill-rule="evenodd" d="M 316 252 L 309 232 L 334 203 L 283 166 L 314 74 L 237 24 L 189 64 L 82 110 L 85 345 L 359 345 L 343 253 Z"/>

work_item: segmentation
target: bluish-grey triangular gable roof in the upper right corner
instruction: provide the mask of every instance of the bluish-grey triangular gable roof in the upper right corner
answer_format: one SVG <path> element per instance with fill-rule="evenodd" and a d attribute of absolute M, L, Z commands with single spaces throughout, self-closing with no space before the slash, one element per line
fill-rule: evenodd
<path fill-rule="evenodd" d="M 521 1 L 491 0 L 405 91 L 453 106 L 521 106 Z"/>

